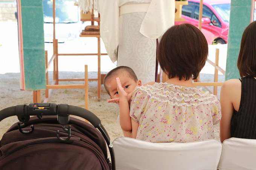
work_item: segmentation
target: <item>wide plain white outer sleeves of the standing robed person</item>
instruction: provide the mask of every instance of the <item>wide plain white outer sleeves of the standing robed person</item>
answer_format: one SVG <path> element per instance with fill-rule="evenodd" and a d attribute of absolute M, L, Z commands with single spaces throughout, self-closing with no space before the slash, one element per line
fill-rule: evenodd
<path fill-rule="evenodd" d="M 101 38 L 112 62 L 117 60 L 119 7 L 126 3 L 148 2 L 150 6 L 141 24 L 140 33 L 150 39 L 157 39 L 174 25 L 175 0 L 99 0 Z"/>

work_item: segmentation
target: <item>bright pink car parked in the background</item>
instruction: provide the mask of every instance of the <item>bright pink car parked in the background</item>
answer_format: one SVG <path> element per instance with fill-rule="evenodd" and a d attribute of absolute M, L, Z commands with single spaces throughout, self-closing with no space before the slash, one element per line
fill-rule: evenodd
<path fill-rule="evenodd" d="M 182 15 L 186 21 L 176 21 L 175 25 L 189 23 L 198 27 L 200 0 L 187 0 Z M 208 44 L 227 44 L 231 0 L 203 0 L 201 31 Z"/>

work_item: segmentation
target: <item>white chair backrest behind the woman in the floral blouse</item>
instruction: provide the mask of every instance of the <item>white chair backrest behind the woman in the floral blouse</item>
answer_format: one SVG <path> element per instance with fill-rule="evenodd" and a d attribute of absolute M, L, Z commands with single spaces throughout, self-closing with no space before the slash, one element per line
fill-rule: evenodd
<path fill-rule="evenodd" d="M 119 137 L 113 141 L 116 170 L 216 170 L 222 143 L 150 143 Z"/>

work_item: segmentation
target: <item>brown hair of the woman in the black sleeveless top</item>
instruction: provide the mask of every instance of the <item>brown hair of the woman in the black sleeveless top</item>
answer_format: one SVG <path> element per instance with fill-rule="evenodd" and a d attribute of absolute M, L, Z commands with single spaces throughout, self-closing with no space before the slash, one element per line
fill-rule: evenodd
<path fill-rule="evenodd" d="M 256 77 L 256 21 L 250 23 L 244 30 L 237 68 L 241 77 Z"/>

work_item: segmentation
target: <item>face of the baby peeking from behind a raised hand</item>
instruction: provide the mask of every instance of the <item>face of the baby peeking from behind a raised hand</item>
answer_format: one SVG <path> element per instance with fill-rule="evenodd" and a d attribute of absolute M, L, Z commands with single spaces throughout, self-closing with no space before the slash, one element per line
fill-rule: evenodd
<path fill-rule="evenodd" d="M 120 75 L 117 77 L 119 77 L 122 87 L 127 94 L 133 92 L 133 90 L 135 89 L 136 86 L 141 86 L 140 80 L 135 82 L 132 78 L 130 78 L 127 75 Z M 110 98 L 111 99 L 118 98 L 119 94 L 117 92 L 116 77 L 113 77 L 113 79 L 110 81 L 109 86 L 110 86 L 110 88 L 109 88 Z"/>

